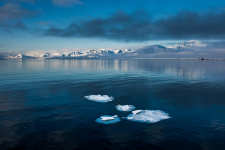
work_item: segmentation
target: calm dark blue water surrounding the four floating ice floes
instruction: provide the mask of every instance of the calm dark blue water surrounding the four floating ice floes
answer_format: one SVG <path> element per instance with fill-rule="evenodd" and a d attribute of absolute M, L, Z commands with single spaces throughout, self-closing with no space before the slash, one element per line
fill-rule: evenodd
<path fill-rule="evenodd" d="M 0 149 L 224 149 L 225 61 L 0 61 Z M 90 94 L 113 96 L 97 103 Z M 163 110 L 147 124 L 95 122 Z"/>

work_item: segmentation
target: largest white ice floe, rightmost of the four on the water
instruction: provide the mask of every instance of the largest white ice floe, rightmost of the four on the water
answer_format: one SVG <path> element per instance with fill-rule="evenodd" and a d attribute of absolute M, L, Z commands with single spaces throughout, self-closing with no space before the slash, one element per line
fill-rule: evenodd
<path fill-rule="evenodd" d="M 169 118 L 171 117 L 161 110 L 135 110 L 126 117 L 127 120 L 145 123 L 155 123 Z"/>

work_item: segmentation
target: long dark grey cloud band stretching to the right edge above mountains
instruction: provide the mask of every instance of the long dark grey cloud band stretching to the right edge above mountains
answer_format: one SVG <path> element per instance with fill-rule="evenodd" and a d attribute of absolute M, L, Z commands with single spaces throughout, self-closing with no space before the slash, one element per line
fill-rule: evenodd
<path fill-rule="evenodd" d="M 45 35 L 126 42 L 151 39 L 224 39 L 225 13 L 180 12 L 174 16 L 154 20 L 145 12 L 117 12 L 107 18 L 79 20 L 63 29 L 51 27 L 45 31 Z"/>

